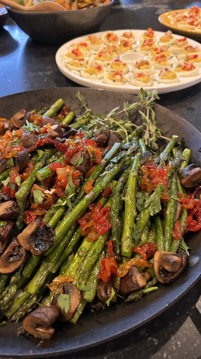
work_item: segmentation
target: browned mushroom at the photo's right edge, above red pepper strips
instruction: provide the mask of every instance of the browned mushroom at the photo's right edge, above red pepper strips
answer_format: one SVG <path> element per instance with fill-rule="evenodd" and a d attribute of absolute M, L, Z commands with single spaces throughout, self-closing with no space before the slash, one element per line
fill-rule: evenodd
<path fill-rule="evenodd" d="M 184 187 L 195 187 L 201 184 L 201 168 L 195 164 L 189 164 L 181 172 L 181 184 Z"/>

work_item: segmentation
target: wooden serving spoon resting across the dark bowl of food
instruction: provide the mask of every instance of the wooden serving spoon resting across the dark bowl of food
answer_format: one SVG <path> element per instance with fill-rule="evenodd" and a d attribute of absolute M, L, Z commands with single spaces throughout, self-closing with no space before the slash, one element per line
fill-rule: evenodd
<path fill-rule="evenodd" d="M 37 13 L 50 12 L 50 11 L 66 11 L 64 6 L 54 3 L 54 1 L 42 1 L 41 3 L 32 6 L 23 6 L 12 0 L 0 0 L 0 3 L 9 6 L 11 9 L 19 11 L 35 11 Z"/>

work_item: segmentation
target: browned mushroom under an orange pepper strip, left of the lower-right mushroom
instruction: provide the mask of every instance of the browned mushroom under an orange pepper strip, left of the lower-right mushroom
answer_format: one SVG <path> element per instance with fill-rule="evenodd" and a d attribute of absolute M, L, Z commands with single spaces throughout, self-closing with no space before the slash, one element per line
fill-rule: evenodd
<path fill-rule="evenodd" d="M 134 290 L 141 289 L 146 284 L 145 276 L 138 271 L 137 266 L 132 266 L 128 273 L 120 280 L 121 294 L 125 295 L 134 292 Z"/>

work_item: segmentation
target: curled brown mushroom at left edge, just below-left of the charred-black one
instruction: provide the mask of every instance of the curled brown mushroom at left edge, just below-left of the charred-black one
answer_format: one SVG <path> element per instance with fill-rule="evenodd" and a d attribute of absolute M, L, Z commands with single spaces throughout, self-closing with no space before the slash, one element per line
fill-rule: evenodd
<path fill-rule="evenodd" d="M 13 238 L 13 241 L 0 258 L 0 273 L 6 274 L 13 272 L 24 263 L 26 254 L 26 251 L 20 246 L 17 238 Z"/>

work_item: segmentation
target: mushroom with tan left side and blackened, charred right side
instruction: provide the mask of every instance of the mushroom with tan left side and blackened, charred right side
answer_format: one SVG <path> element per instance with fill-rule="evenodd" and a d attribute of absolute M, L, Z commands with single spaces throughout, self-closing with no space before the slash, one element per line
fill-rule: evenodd
<path fill-rule="evenodd" d="M 34 256 L 46 253 L 54 246 L 54 231 L 49 224 L 44 224 L 42 227 L 41 220 L 36 219 L 29 224 L 20 234 L 18 234 L 18 241 L 27 251 L 30 251 Z"/>

